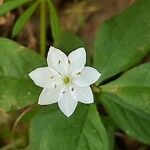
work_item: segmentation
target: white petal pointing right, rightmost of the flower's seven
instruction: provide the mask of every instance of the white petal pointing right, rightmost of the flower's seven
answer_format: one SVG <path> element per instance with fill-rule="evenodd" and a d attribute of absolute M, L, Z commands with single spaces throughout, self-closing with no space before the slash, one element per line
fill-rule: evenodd
<path fill-rule="evenodd" d="M 79 74 L 76 75 L 73 82 L 79 86 L 88 86 L 96 82 L 101 74 L 92 67 L 85 67 Z"/>

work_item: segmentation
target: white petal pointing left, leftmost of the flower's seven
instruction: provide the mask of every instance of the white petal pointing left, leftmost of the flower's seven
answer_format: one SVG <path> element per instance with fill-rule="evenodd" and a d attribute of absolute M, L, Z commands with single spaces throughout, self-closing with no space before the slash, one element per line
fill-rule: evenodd
<path fill-rule="evenodd" d="M 29 76 L 37 86 L 43 88 L 51 88 L 62 82 L 61 75 L 49 67 L 37 68 L 30 72 Z"/>

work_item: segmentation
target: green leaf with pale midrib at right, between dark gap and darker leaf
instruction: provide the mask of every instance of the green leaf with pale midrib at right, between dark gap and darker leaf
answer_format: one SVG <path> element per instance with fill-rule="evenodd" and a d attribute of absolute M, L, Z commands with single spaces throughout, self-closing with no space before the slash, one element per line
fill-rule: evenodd
<path fill-rule="evenodd" d="M 102 86 L 102 91 L 119 98 L 119 104 L 132 106 L 150 120 L 150 63 L 126 72 L 119 79 Z"/>

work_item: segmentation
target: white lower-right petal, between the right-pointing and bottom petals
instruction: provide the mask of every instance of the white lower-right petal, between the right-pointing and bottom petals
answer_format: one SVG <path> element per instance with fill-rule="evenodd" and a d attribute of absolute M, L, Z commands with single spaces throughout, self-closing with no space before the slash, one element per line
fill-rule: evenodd
<path fill-rule="evenodd" d="M 90 104 L 94 102 L 93 93 L 89 86 L 79 87 L 77 85 L 73 85 L 71 87 L 72 96 L 79 102 Z"/>

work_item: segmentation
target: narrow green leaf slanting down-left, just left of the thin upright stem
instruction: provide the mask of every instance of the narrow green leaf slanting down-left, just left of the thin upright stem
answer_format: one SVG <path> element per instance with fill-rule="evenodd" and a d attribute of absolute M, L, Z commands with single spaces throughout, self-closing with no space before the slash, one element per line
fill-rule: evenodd
<path fill-rule="evenodd" d="M 20 33 L 20 31 L 25 26 L 27 21 L 31 18 L 38 4 L 39 4 L 39 1 L 32 4 L 23 14 L 21 14 L 20 18 L 17 20 L 13 28 L 13 37 L 17 36 Z"/>

